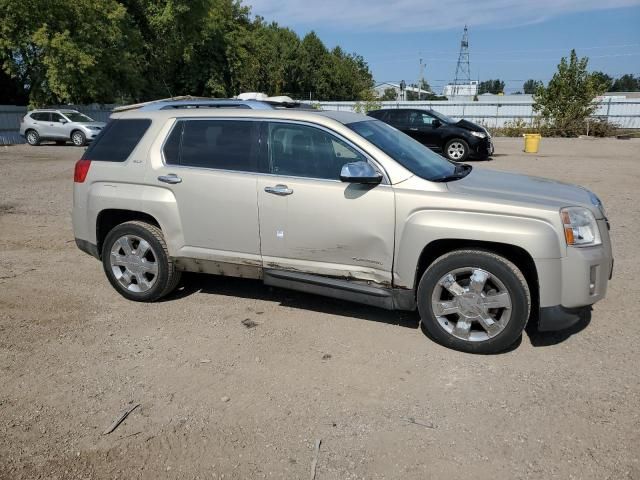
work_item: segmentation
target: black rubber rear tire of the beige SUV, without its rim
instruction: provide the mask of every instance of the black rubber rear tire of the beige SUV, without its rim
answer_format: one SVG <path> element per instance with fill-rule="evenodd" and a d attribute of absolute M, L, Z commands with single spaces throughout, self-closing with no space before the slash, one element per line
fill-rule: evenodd
<path fill-rule="evenodd" d="M 155 257 L 157 278 L 155 278 L 152 287 L 145 292 L 128 290 L 118 281 L 113 272 L 111 249 L 119 238 L 126 235 L 133 235 L 146 240 L 151 246 Z M 123 297 L 136 302 L 155 302 L 168 295 L 176 288 L 182 275 L 182 272 L 176 269 L 173 259 L 169 256 L 162 231 L 155 225 L 137 220 L 121 223 L 107 234 L 102 245 L 102 266 L 113 288 Z"/>

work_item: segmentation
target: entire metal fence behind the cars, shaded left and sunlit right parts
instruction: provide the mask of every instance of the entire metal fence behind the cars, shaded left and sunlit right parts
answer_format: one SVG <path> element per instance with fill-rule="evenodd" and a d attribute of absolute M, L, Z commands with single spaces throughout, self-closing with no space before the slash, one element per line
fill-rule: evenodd
<path fill-rule="evenodd" d="M 320 105 L 323 110 L 353 111 L 357 102 L 306 102 Z M 506 122 L 524 120 L 531 122 L 535 117 L 531 101 L 495 102 L 381 102 L 383 108 L 430 108 L 453 118 L 465 118 L 489 127 L 501 127 Z M 95 120 L 105 122 L 111 115 L 113 105 L 76 105 L 75 108 Z M 24 143 L 20 137 L 20 119 L 27 113 L 27 107 L 0 105 L 0 145 Z M 594 117 L 606 119 L 620 128 L 640 128 L 640 100 L 605 98 L 598 101 Z"/>

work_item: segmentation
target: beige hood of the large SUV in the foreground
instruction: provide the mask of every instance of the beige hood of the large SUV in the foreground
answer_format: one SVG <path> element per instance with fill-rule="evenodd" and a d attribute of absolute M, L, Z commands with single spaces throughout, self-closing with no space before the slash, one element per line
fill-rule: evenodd
<path fill-rule="evenodd" d="M 447 184 L 451 192 L 491 197 L 496 200 L 544 205 L 551 208 L 589 208 L 596 218 L 603 214 L 593 193 L 570 183 L 540 177 L 474 168 L 466 177 Z M 595 197 L 597 198 L 597 197 Z"/>

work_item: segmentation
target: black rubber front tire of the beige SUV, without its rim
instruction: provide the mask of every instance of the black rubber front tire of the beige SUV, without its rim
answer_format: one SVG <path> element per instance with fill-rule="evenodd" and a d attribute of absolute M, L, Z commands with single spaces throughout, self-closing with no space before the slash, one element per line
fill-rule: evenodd
<path fill-rule="evenodd" d="M 456 269 L 469 267 L 482 269 L 492 278 L 495 276 L 510 296 L 510 318 L 503 330 L 481 341 L 463 340 L 446 331 L 438 322 L 432 306 L 432 294 L 440 279 Z M 436 259 L 424 272 L 418 286 L 417 303 L 422 327 L 436 342 L 454 350 L 488 354 L 502 352 L 520 338 L 529 319 L 531 294 L 522 272 L 504 257 L 484 250 L 455 250 Z"/>

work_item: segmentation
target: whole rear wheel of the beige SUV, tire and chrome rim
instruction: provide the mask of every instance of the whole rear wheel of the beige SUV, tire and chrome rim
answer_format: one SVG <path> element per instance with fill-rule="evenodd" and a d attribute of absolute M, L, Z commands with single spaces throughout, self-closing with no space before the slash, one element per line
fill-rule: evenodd
<path fill-rule="evenodd" d="M 102 265 L 111 285 L 123 297 L 154 302 L 169 294 L 181 272 L 155 225 L 131 221 L 113 228 L 102 245 Z"/>

